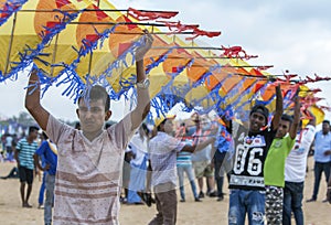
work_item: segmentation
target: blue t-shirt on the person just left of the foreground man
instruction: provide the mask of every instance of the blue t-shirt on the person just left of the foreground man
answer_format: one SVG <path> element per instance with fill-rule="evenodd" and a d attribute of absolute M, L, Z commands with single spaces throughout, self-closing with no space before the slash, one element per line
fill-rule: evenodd
<path fill-rule="evenodd" d="M 46 172 L 50 175 L 55 175 L 57 167 L 57 150 L 55 144 L 43 141 L 35 153 L 40 157 L 44 157 L 44 163 L 50 164 L 50 169 Z"/>

